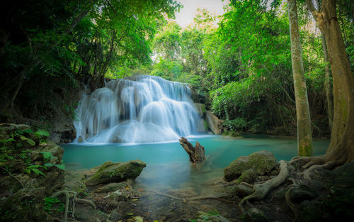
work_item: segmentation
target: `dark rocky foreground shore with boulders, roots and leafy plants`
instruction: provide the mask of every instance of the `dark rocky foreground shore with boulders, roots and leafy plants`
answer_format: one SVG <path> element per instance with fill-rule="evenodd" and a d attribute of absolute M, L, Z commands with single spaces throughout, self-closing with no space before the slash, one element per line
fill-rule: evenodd
<path fill-rule="evenodd" d="M 146 166 L 141 160 L 65 171 L 62 148 L 45 141 L 45 133 L 15 124 L 1 124 L 0 130 L 1 221 L 332 221 L 353 216 L 354 163 L 305 179 L 302 167 L 283 161 L 289 179 L 264 198 L 245 201 L 241 211 L 240 202 L 254 195 L 256 184 L 282 174 L 271 152 L 236 158 L 224 178 L 206 181 L 198 192 L 154 189 L 135 183 Z"/>

